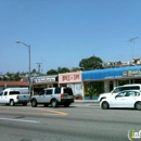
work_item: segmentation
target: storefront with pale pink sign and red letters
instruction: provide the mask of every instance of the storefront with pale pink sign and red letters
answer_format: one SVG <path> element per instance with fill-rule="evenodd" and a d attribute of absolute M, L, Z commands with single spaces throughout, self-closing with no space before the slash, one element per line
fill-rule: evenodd
<path fill-rule="evenodd" d="M 84 88 L 81 81 L 81 72 L 59 74 L 59 86 L 70 87 L 74 92 L 74 99 L 82 100 Z"/>

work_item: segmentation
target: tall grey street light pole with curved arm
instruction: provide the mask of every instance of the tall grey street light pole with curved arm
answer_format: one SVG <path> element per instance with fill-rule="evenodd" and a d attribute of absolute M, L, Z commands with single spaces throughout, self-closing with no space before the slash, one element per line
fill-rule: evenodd
<path fill-rule="evenodd" d="M 15 41 L 16 43 L 22 43 L 22 44 L 24 44 L 24 46 L 26 46 L 27 48 L 28 48 L 28 61 L 29 61 L 29 94 L 30 94 L 30 97 L 31 97 L 31 84 L 30 84 L 30 46 L 27 46 L 26 43 L 24 43 L 24 42 L 22 42 L 22 41 Z"/>

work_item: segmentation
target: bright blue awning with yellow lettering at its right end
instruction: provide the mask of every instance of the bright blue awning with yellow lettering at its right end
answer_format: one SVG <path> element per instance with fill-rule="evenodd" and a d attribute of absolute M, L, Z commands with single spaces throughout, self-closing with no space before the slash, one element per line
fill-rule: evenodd
<path fill-rule="evenodd" d="M 82 80 L 115 79 L 125 77 L 141 77 L 141 66 L 127 66 L 82 72 Z"/>

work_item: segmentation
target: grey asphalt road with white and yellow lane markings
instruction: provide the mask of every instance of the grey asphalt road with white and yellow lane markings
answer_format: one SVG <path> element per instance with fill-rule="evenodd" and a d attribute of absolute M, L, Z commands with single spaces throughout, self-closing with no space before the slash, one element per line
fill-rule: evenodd
<path fill-rule="evenodd" d="M 0 141 L 129 141 L 128 131 L 141 130 L 140 125 L 141 111 L 101 110 L 93 103 L 0 105 Z"/>

